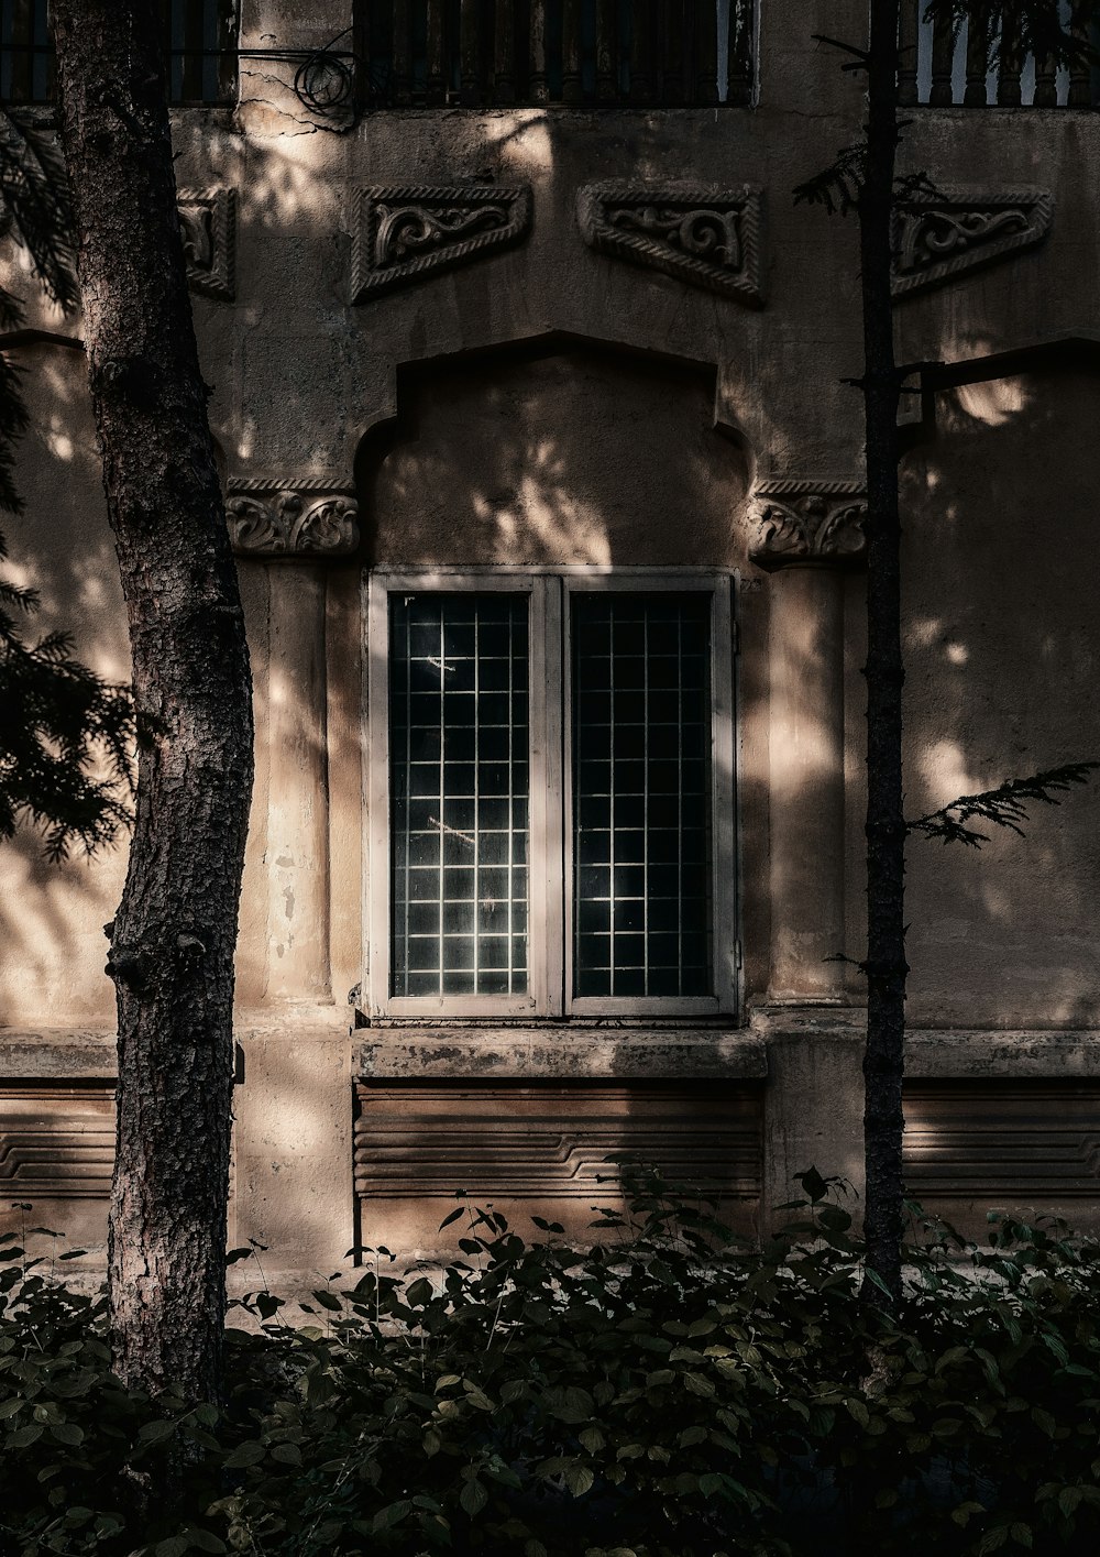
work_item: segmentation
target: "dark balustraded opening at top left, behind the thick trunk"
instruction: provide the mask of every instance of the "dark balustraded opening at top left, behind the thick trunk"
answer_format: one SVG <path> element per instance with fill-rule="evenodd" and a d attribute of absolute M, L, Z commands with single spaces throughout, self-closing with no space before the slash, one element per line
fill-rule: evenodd
<path fill-rule="evenodd" d="M 159 0 L 171 103 L 232 103 L 236 93 L 236 0 Z M 48 0 L 0 0 L 0 100 L 56 95 Z"/>

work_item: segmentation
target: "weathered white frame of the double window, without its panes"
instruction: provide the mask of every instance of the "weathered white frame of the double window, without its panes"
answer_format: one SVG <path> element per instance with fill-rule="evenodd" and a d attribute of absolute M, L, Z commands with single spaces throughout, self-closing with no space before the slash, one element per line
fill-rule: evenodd
<path fill-rule="evenodd" d="M 363 990 L 372 1020 L 643 1017 L 737 1012 L 737 833 L 734 772 L 736 648 L 731 575 L 699 568 L 377 568 L 366 584 L 367 872 Z M 527 841 L 527 992 L 391 995 L 389 596 L 527 595 L 531 797 Z M 573 989 L 573 652 L 571 599 L 588 590 L 706 593 L 711 599 L 711 967 L 713 993 L 574 996 Z M 551 796 L 560 797 L 551 803 Z"/>

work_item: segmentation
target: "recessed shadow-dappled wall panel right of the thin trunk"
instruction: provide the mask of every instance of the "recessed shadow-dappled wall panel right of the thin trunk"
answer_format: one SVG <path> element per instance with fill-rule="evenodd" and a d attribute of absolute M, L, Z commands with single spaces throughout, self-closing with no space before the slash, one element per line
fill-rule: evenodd
<path fill-rule="evenodd" d="M 938 397 L 906 461 L 907 811 L 1100 757 L 1095 372 Z M 1100 789 L 980 853 L 909 847 L 910 1023 L 1095 1026 Z"/>

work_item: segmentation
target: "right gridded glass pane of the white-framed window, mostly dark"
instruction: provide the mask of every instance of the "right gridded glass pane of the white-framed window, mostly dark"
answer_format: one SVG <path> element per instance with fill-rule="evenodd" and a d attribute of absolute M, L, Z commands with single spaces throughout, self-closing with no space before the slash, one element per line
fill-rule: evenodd
<path fill-rule="evenodd" d="M 573 603 L 576 996 L 708 995 L 709 596 Z"/>

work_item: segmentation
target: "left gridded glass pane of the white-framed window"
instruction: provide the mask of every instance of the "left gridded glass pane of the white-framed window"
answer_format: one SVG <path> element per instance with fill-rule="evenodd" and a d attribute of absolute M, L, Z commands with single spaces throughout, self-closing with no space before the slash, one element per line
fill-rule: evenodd
<path fill-rule="evenodd" d="M 527 989 L 527 598 L 391 599 L 392 993 Z"/>

